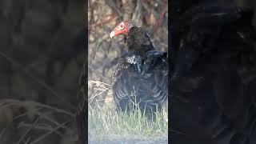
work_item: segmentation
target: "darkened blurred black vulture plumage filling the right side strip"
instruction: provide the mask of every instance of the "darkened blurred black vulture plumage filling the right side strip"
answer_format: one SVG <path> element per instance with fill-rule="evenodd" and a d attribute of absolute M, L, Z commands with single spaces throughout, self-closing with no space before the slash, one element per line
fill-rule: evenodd
<path fill-rule="evenodd" d="M 174 11 L 170 126 L 180 133 L 171 134 L 173 143 L 256 143 L 253 14 L 206 4 Z"/>

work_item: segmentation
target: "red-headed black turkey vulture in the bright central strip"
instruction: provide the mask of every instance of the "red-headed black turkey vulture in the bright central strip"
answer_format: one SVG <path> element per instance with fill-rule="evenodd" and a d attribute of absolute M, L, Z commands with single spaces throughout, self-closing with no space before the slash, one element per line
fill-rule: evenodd
<path fill-rule="evenodd" d="M 126 51 L 118 59 L 113 74 L 114 102 L 122 111 L 138 104 L 149 118 L 167 100 L 167 53 L 154 48 L 149 36 L 131 21 L 121 22 L 110 38 L 125 35 Z"/>

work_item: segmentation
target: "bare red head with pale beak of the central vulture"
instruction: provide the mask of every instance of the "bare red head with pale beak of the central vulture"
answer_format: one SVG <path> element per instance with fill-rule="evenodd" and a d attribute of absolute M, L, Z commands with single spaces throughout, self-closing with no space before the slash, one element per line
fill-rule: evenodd
<path fill-rule="evenodd" d="M 135 25 L 131 21 L 123 21 L 119 23 L 118 26 L 116 26 L 114 30 L 110 33 L 110 38 L 113 38 L 114 36 L 117 36 L 119 34 L 128 34 L 130 28 L 132 28 L 133 26 Z"/>

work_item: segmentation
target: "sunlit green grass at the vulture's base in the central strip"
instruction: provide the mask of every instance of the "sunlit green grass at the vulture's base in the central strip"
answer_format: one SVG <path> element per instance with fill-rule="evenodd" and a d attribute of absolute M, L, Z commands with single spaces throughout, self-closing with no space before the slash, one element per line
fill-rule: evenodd
<path fill-rule="evenodd" d="M 106 139 L 158 139 L 167 137 L 168 114 L 164 109 L 156 113 L 154 122 L 146 118 L 141 110 L 134 113 L 122 113 L 114 110 L 114 106 L 89 106 L 88 125 L 89 140 Z"/>

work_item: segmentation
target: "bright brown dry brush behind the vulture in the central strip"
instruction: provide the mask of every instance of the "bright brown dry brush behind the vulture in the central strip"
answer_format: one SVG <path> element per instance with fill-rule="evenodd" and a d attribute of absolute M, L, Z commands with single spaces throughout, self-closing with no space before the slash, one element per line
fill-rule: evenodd
<path fill-rule="evenodd" d="M 111 103 L 110 83 L 114 62 L 124 49 L 123 36 L 110 39 L 119 22 L 132 20 L 142 26 L 158 50 L 168 47 L 168 1 L 90 0 L 89 22 L 89 102 Z M 101 82 L 101 84 L 99 84 Z M 105 100 L 106 98 L 106 100 Z"/>

